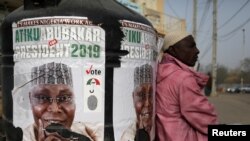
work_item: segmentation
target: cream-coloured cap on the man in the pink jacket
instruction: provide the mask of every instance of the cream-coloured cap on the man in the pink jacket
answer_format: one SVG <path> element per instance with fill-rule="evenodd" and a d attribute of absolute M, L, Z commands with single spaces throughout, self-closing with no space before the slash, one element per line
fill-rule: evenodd
<path fill-rule="evenodd" d="M 186 31 L 174 31 L 174 32 L 166 33 L 164 37 L 163 46 L 159 53 L 158 61 L 161 61 L 164 51 L 166 51 L 170 46 L 176 44 L 177 42 L 179 42 L 180 40 L 184 39 L 185 37 L 189 35 L 191 34 L 187 33 Z"/>

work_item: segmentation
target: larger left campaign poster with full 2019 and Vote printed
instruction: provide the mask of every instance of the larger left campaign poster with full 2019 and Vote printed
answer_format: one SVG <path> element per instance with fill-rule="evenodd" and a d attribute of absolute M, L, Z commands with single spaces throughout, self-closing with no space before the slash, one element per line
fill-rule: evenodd
<path fill-rule="evenodd" d="M 23 140 L 61 139 L 53 132 L 64 129 L 102 141 L 105 31 L 64 16 L 23 19 L 12 29 L 13 123 Z"/>

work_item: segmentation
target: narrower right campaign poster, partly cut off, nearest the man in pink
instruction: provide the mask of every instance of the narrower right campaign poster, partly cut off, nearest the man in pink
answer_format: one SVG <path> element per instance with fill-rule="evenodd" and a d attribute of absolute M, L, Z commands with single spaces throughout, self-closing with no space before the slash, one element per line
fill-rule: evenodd
<path fill-rule="evenodd" d="M 154 140 L 157 36 L 145 24 L 122 20 L 121 67 L 114 70 L 113 116 L 116 141 Z"/>

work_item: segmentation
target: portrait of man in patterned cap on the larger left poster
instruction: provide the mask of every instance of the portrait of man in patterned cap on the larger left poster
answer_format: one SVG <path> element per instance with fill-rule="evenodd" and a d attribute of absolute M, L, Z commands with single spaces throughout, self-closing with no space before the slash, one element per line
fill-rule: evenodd
<path fill-rule="evenodd" d="M 102 139 L 102 131 L 75 122 L 75 93 L 71 68 L 50 62 L 31 70 L 29 99 L 34 124 L 24 129 L 23 141 Z"/>

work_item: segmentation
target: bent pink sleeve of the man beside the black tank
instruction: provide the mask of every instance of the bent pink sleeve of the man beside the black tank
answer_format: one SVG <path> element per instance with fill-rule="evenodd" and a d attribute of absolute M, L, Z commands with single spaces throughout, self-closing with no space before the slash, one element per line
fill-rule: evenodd
<path fill-rule="evenodd" d="M 217 124 L 214 106 L 202 93 L 194 78 L 184 79 L 179 92 L 182 115 L 191 126 L 201 133 L 207 134 L 208 125 Z"/>

